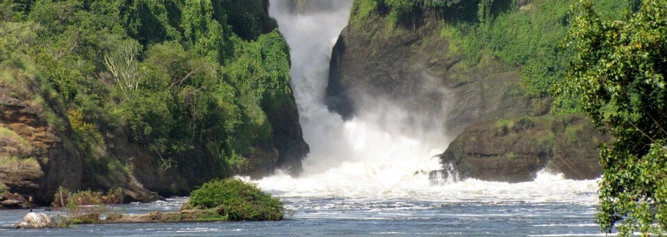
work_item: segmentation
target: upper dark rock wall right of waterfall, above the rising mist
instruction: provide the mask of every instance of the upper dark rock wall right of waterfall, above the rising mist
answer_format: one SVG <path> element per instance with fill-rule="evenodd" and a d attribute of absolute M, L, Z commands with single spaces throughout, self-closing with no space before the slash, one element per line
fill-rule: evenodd
<path fill-rule="evenodd" d="M 458 134 L 470 123 L 527 113 L 529 100 L 517 91 L 518 72 L 487 59 L 468 66 L 440 37 L 442 24 L 427 21 L 414 30 L 393 28 L 379 15 L 351 24 L 331 56 L 327 105 L 349 118 L 376 98 L 412 114 L 445 123 Z"/>

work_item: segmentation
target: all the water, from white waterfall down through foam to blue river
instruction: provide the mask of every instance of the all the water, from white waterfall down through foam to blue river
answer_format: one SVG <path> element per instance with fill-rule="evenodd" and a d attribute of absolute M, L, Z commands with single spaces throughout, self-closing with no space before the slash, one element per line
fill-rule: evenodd
<path fill-rule="evenodd" d="M 451 141 L 439 125 L 422 131 L 392 123 L 409 114 L 401 111 L 361 108 L 349 121 L 329 112 L 323 100 L 331 48 L 352 1 L 322 1 L 322 8 L 308 8 L 313 12 L 270 3 L 290 44 L 293 89 L 311 153 L 300 177 L 279 170 L 261 180 L 238 178 L 281 197 L 290 209 L 285 220 L 30 230 L 11 229 L 25 210 L 2 210 L 0 236 L 604 236 L 594 219 L 596 180 L 568 180 L 548 170 L 517 184 L 459 179 L 455 170 L 429 177 L 443 169 L 434 155 Z M 122 204 L 115 211 L 176 211 L 185 200 Z"/>

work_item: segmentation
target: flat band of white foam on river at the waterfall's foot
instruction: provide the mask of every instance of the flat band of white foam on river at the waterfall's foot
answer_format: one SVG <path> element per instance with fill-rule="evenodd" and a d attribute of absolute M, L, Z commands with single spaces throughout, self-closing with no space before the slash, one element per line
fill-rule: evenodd
<path fill-rule="evenodd" d="M 406 165 L 410 161 L 406 162 Z M 388 166 L 394 166 L 390 164 Z M 283 197 L 318 198 L 410 198 L 437 202 L 488 203 L 570 203 L 596 204 L 596 180 L 570 180 L 562 175 L 543 171 L 535 181 L 516 184 L 466 179 L 443 185 L 430 185 L 428 175 L 400 175 L 400 168 L 379 168 L 377 165 L 354 162 L 320 175 L 290 177 L 277 173 L 255 180 L 270 193 Z M 396 175 L 392 177 L 392 175 Z M 387 178 L 389 177 L 389 178 Z"/>

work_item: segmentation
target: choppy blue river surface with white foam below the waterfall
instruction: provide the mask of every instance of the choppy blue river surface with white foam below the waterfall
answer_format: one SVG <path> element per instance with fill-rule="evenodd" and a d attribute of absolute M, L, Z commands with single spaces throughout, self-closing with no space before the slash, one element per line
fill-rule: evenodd
<path fill-rule="evenodd" d="M 595 181 L 541 173 L 534 182 L 468 179 L 429 190 L 366 197 L 281 195 L 291 215 L 280 222 L 79 225 L 0 229 L 0 236 L 604 236 L 594 223 Z M 331 193 L 329 193 L 331 194 Z M 122 213 L 176 211 L 185 198 L 123 204 Z M 27 211 L 0 211 L 11 227 Z"/>

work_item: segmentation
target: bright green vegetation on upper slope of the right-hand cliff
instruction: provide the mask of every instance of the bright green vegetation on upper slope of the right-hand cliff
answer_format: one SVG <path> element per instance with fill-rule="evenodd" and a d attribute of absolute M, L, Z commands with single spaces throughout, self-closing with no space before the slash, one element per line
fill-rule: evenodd
<path fill-rule="evenodd" d="M 479 21 L 459 21 L 443 27 L 442 35 L 450 40 L 450 51 L 463 53 L 469 64 L 483 58 L 493 58 L 509 65 L 506 70 L 520 70 L 522 88 L 534 98 L 550 96 L 550 89 L 564 78 L 570 53 L 561 50 L 570 15 L 569 7 L 577 0 L 529 1 L 519 6 L 518 1 L 480 1 L 492 4 L 480 15 Z M 614 17 L 630 8 L 628 1 L 596 1 L 601 12 Z M 568 100 L 559 101 L 557 109 L 573 109 Z"/>

